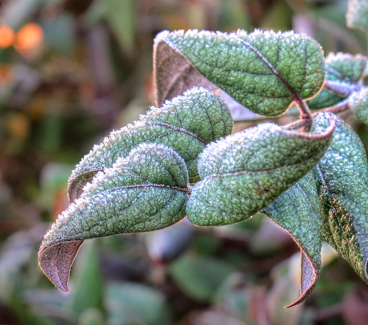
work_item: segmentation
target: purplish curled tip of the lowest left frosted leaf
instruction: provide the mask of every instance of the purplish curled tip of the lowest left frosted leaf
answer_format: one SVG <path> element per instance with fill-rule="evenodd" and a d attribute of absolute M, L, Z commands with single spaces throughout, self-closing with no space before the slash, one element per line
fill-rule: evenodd
<path fill-rule="evenodd" d="M 60 290 L 68 292 L 70 268 L 77 256 L 81 241 L 58 242 L 47 246 L 42 243 L 38 252 L 38 263 L 47 278 Z"/>

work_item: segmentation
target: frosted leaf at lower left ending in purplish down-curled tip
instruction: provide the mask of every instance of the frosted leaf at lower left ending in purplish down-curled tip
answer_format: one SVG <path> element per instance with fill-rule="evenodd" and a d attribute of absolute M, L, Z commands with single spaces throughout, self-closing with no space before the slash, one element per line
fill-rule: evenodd
<path fill-rule="evenodd" d="M 168 227 L 185 216 L 190 193 L 183 158 L 163 144 L 141 144 L 87 184 L 45 235 L 39 263 L 68 290 L 71 264 L 83 241 Z"/>

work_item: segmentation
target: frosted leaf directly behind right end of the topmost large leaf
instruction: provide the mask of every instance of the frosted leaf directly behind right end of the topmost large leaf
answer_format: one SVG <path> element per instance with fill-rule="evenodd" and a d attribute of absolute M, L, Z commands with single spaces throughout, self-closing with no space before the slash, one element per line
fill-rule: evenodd
<path fill-rule="evenodd" d="M 349 53 L 329 53 L 326 57 L 326 80 L 342 83 L 342 87 L 357 84 L 364 74 L 368 58 L 365 55 L 351 55 Z M 314 98 L 308 101 L 311 109 L 321 109 L 336 105 L 346 95 L 338 95 L 325 87 Z"/>

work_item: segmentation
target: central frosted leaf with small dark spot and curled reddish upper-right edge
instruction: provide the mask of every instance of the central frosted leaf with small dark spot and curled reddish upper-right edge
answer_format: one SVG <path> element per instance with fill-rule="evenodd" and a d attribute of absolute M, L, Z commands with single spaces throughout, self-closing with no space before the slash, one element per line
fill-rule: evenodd
<path fill-rule="evenodd" d="M 335 127 L 330 116 L 329 125 L 315 133 L 262 123 L 208 145 L 198 162 L 202 181 L 192 189 L 188 219 L 231 224 L 268 206 L 325 154 Z"/>

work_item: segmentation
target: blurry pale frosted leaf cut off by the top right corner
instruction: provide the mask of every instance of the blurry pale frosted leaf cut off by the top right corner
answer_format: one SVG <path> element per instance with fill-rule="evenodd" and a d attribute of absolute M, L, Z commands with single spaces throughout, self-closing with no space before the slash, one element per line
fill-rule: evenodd
<path fill-rule="evenodd" d="M 359 28 L 368 33 L 368 2 L 366 0 L 348 0 L 346 26 Z"/>

